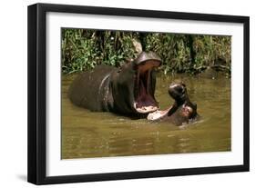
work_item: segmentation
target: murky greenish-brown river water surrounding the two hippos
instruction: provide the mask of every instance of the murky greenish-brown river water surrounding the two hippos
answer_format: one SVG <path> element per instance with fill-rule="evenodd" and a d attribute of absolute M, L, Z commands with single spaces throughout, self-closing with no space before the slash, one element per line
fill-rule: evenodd
<path fill-rule="evenodd" d="M 75 76 L 62 78 L 63 159 L 230 151 L 230 79 L 224 76 L 158 75 L 155 96 L 161 109 L 173 102 L 167 88 L 174 79 L 187 85 L 190 100 L 198 104 L 200 121 L 182 126 L 77 107 L 67 98 Z"/>

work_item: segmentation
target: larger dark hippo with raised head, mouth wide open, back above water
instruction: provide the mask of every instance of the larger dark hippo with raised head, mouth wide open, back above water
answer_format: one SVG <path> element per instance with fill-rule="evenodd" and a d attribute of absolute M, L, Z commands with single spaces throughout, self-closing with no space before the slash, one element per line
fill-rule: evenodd
<path fill-rule="evenodd" d="M 134 115 L 159 109 L 155 99 L 157 54 L 142 52 L 138 58 L 117 68 L 98 65 L 77 76 L 69 88 L 73 104 L 95 112 Z"/>

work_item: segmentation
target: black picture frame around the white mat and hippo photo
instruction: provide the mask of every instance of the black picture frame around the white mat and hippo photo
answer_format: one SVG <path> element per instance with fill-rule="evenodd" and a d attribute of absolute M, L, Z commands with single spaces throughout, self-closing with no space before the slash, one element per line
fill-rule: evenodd
<path fill-rule="evenodd" d="M 76 13 L 90 15 L 121 15 L 165 18 L 189 21 L 211 21 L 243 24 L 243 164 L 214 167 L 152 170 L 124 173 L 70 174 L 46 176 L 46 13 Z M 81 5 L 36 4 L 28 6 L 28 153 L 27 181 L 35 184 L 80 183 L 94 181 L 151 178 L 204 173 L 249 171 L 249 26 L 248 16 L 208 15 L 153 10 L 94 7 Z"/>

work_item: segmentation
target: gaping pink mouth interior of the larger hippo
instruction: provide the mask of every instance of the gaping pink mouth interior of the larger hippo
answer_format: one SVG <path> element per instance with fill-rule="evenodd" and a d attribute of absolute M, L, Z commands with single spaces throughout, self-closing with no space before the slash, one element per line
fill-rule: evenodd
<path fill-rule="evenodd" d="M 138 65 L 135 78 L 134 108 L 139 114 L 148 114 L 159 109 L 154 97 L 154 83 L 152 83 L 152 71 L 159 67 L 158 61 L 147 61 Z"/>

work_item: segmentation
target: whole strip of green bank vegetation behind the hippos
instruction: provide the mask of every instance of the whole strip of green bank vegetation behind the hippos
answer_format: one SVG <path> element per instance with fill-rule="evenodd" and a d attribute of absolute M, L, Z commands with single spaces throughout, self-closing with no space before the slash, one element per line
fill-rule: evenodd
<path fill-rule="evenodd" d="M 162 59 L 160 71 L 198 74 L 213 68 L 230 76 L 231 37 L 87 29 L 62 29 L 62 73 L 92 70 L 97 64 L 120 66 L 143 51 Z"/>

